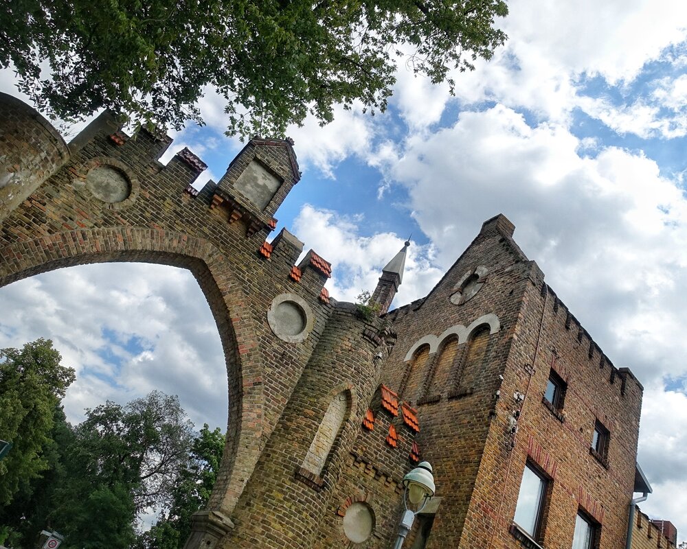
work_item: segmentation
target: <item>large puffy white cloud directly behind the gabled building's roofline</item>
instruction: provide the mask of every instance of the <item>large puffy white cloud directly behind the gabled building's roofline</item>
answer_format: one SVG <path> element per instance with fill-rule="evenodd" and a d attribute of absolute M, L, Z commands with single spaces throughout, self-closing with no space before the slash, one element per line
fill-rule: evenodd
<path fill-rule="evenodd" d="M 687 373 L 678 334 L 687 324 L 679 181 L 641 154 L 602 148 L 588 158 L 580 147 L 563 126 L 530 128 L 496 106 L 409 139 L 386 170 L 407 188 L 442 268 L 484 220 L 505 213 L 517 242 L 616 364 L 633 366 L 645 382 Z"/>

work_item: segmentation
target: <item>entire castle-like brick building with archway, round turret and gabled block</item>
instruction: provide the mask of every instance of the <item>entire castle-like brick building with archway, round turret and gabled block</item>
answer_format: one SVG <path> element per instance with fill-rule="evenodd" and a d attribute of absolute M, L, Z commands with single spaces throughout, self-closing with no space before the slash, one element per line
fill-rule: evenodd
<path fill-rule="evenodd" d="M 662 539 L 632 502 L 648 487 L 635 463 L 642 385 L 504 215 L 425 298 L 387 312 L 407 244 L 359 307 L 329 296 L 321 255 L 296 264 L 289 231 L 267 242 L 300 178 L 293 143 L 253 139 L 196 191 L 205 165 L 186 149 L 159 163 L 166 135 L 129 138 L 105 113 L 67 144 L 6 95 L 0 116 L 0 285 L 147 261 L 188 268 L 207 297 L 229 428 L 189 549 L 387 548 L 420 460 L 437 491 L 407 548 L 615 549 L 640 528 L 633 547 L 644 531 Z"/>

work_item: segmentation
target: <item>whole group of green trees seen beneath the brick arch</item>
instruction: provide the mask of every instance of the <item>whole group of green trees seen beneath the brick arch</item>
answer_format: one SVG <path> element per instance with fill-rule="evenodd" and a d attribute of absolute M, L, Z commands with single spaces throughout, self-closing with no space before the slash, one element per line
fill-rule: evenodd
<path fill-rule="evenodd" d="M 0 544 L 32 549 L 41 530 L 65 549 L 176 549 L 210 497 L 224 436 L 193 432 L 176 396 L 106 402 L 73 427 L 61 406 L 74 370 L 49 340 L 0 351 Z M 143 513 L 161 517 L 149 533 Z"/>

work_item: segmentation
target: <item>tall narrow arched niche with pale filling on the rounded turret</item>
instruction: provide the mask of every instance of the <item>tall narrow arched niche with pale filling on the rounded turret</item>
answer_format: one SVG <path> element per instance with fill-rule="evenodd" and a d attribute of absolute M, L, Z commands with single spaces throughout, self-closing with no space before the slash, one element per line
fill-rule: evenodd
<path fill-rule="evenodd" d="M 330 461 L 334 443 L 341 434 L 346 419 L 348 419 L 350 405 L 349 390 L 341 391 L 332 399 L 301 465 L 300 476 L 309 478 L 315 484 L 319 484 L 320 487 L 322 487 L 322 471 Z"/>

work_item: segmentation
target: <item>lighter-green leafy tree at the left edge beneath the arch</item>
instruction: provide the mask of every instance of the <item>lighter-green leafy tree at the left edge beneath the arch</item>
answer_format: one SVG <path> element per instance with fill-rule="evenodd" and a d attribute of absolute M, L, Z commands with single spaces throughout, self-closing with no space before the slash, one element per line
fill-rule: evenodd
<path fill-rule="evenodd" d="M 51 340 L 0 350 L 0 439 L 14 444 L 0 460 L 0 509 L 51 465 L 56 408 L 75 378 L 60 360 Z"/>

